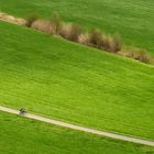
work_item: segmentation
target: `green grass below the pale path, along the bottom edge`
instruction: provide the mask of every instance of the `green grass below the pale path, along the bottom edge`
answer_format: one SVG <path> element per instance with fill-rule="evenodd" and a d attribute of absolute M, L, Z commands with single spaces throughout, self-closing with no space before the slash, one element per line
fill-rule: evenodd
<path fill-rule="evenodd" d="M 153 154 L 154 148 L 0 112 L 1 154 Z M 11 130 L 10 130 L 11 128 Z"/>

